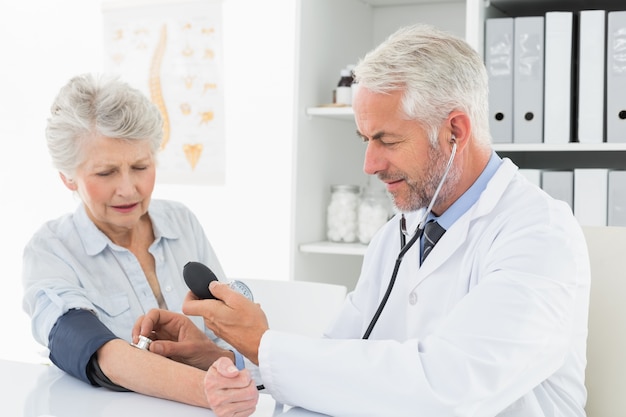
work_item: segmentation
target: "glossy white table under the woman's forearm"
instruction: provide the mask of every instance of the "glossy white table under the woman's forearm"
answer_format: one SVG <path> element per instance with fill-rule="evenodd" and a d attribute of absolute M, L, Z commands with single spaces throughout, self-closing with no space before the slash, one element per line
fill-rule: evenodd
<path fill-rule="evenodd" d="M 85 384 L 54 365 L 0 360 L 0 404 L 7 417 L 211 417 L 205 408 L 114 392 Z M 261 394 L 255 417 L 315 417 L 322 414 L 284 407 Z"/>

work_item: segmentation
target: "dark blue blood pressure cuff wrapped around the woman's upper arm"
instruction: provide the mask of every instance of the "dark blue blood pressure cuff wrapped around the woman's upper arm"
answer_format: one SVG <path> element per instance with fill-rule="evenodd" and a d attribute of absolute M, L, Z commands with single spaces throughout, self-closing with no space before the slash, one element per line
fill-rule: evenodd
<path fill-rule="evenodd" d="M 97 350 L 117 338 L 89 310 L 73 309 L 59 317 L 50 331 L 50 360 L 63 371 L 88 384 L 128 391 L 111 382 L 97 361 Z"/>

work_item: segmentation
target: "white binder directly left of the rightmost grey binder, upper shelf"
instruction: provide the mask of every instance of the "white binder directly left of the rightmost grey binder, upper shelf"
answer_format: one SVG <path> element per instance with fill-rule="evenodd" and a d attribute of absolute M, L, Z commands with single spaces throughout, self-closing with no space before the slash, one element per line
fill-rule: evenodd
<path fill-rule="evenodd" d="M 604 141 L 606 11 L 582 10 L 578 30 L 578 141 Z"/>

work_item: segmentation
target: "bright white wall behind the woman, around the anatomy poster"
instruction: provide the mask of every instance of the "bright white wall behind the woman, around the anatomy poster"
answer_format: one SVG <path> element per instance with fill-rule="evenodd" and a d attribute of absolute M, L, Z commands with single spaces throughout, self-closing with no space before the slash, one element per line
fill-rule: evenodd
<path fill-rule="evenodd" d="M 21 308 L 22 248 L 77 204 L 50 166 L 44 127 L 69 77 L 101 71 L 101 1 L 0 3 L 0 358 L 33 360 L 41 350 Z M 196 212 L 227 275 L 289 279 L 296 2 L 223 8 L 226 185 L 157 185 L 154 197 Z"/>

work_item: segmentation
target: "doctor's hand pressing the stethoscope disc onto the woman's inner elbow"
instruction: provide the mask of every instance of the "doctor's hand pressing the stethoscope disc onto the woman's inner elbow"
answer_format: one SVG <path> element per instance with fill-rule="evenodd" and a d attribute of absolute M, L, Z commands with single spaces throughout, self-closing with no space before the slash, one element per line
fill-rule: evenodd
<path fill-rule="evenodd" d="M 152 309 L 139 317 L 132 331 L 133 343 L 139 335 L 152 339 L 150 352 L 196 368 L 207 370 L 218 358 L 234 360 L 233 352 L 217 346 L 184 314 Z"/>

